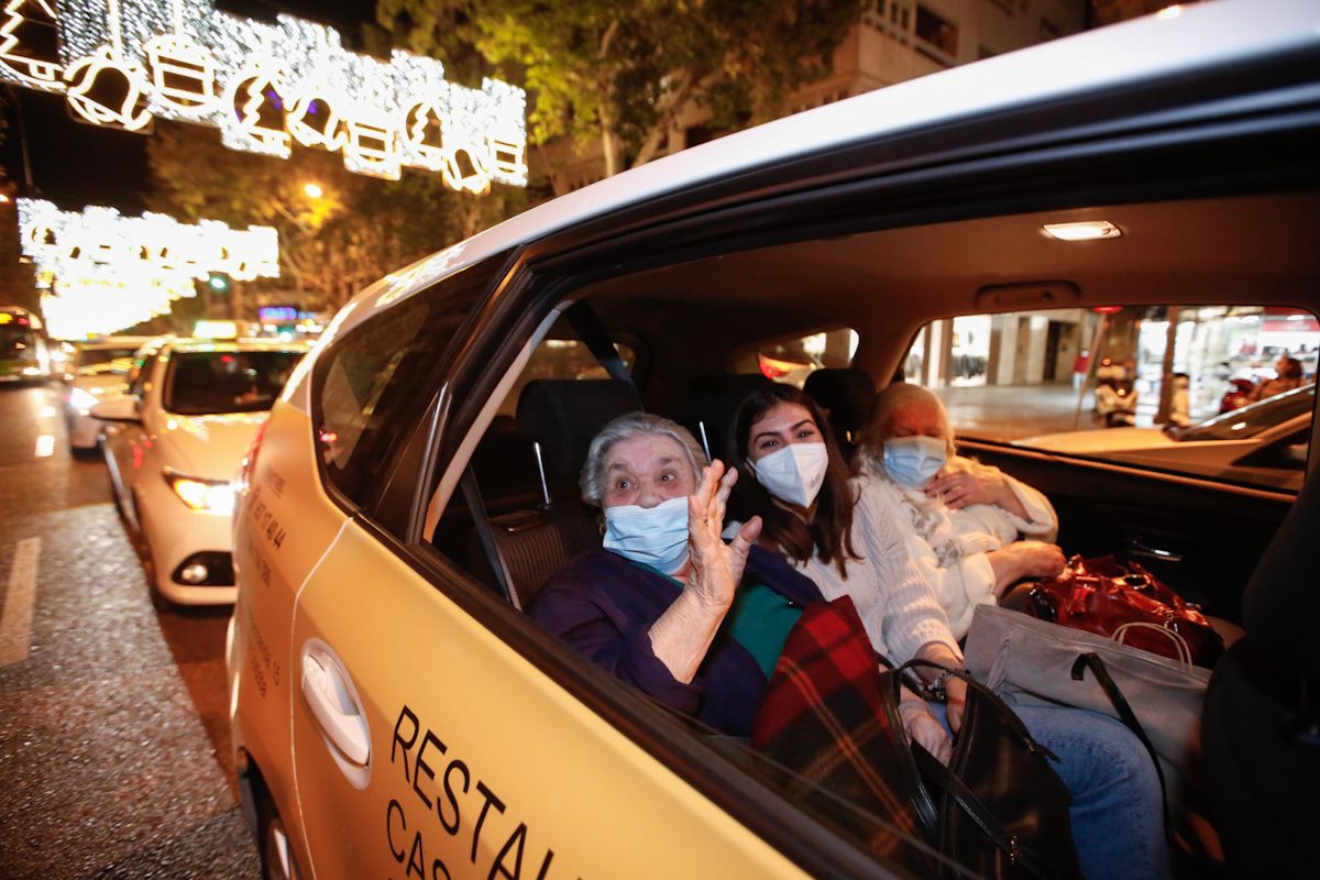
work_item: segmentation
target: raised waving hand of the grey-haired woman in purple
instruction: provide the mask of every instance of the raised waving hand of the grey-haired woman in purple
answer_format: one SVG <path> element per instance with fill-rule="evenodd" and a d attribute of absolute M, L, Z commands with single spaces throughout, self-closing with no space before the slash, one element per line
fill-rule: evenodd
<path fill-rule="evenodd" d="M 692 575 L 688 588 L 705 604 L 727 608 L 747 566 L 747 553 L 760 537 L 760 517 L 743 524 L 733 544 L 721 537 L 729 493 L 738 471 L 726 471 L 718 459 L 701 468 L 697 491 L 688 496 L 688 546 Z"/>

